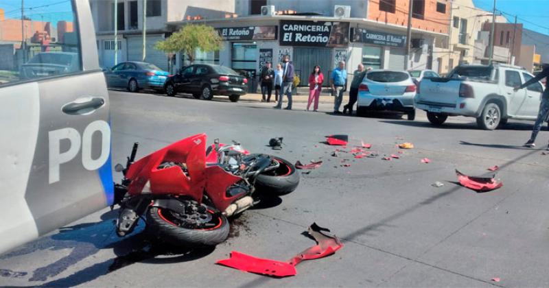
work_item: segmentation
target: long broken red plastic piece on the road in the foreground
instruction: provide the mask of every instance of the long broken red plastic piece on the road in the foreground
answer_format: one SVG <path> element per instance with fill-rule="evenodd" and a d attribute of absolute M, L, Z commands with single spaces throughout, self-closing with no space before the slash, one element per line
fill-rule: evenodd
<path fill-rule="evenodd" d="M 335 235 L 329 235 L 330 230 L 322 228 L 316 223 L 309 226 L 309 235 L 316 241 L 317 245 L 307 248 L 307 250 L 292 257 L 288 262 L 276 261 L 271 259 L 262 259 L 250 256 L 241 252 L 231 252 L 229 259 L 223 259 L 217 263 L 235 269 L 240 269 L 245 272 L 264 274 L 275 277 L 294 276 L 297 274 L 295 266 L 305 260 L 313 260 L 323 258 L 334 254 L 337 250 L 343 247 Z"/>

